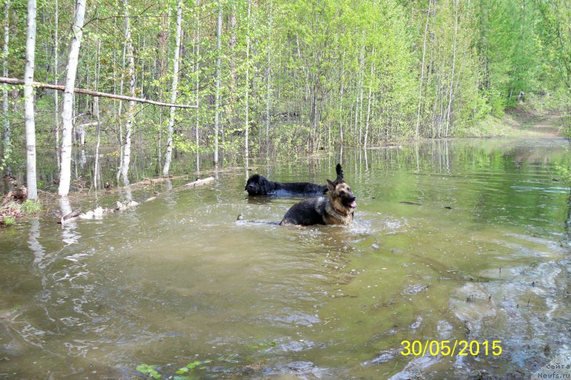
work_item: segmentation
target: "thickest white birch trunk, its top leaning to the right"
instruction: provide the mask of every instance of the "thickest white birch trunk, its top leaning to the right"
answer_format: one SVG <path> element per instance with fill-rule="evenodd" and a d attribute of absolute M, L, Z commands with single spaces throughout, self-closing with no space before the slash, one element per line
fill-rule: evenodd
<path fill-rule="evenodd" d="M 73 38 L 69 46 L 69 60 L 66 76 L 66 90 L 64 91 L 64 106 L 61 112 L 61 173 L 59 175 L 58 194 L 65 197 L 69 193 L 71 182 L 71 130 L 74 128 L 74 87 L 76 83 L 79 46 L 83 34 L 86 0 L 77 0 L 74 20 Z"/>

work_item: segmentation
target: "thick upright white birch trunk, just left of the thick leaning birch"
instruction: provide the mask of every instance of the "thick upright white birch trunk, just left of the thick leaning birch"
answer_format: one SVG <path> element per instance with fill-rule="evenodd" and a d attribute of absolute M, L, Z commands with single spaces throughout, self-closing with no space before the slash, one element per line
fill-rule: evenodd
<path fill-rule="evenodd" d="M 34 61 L 36 59 L 36 0 L 28 0 L 26 66 L 24 68 L 24 114 L 26 118 L 26 185 L 28 198 L 38 199 L 36 188 L 36 122 L 34 120 Z"/>

